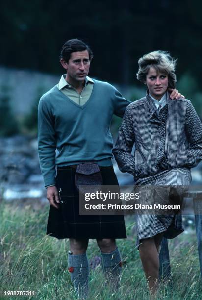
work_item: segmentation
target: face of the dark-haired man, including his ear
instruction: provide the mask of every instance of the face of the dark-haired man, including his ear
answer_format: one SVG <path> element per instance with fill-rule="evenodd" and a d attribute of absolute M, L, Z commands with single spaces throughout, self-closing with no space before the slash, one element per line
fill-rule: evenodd
<path fill-rule="evenodd" d="M 68 63 L 62 65 L 67 70 L 68 81 L 84 81 L 90 68 L 88 51 L 71 53 Z"/>

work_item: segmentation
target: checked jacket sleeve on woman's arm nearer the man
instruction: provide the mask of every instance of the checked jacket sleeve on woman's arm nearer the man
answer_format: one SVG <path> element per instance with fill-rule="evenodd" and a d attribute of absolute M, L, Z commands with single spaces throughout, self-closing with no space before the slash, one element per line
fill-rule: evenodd
<path fill-rule="evenodd" d="M 133 125 L 130 118 L 130 110 L 127 107 L 122 124 L 119 128 L 116 145 L 113 149 L 113 154 L 120 171 L 135 174 L 135 160 L 131 154 L 135 136 L 133 132 Z"/>

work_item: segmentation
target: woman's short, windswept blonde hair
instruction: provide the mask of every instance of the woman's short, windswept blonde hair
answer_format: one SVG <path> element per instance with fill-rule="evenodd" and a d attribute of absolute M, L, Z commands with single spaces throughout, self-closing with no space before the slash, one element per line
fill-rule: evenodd
<path fill-rule="evenodd" d="M 176 62 L 169 54 L 165 51 L 153 51 L 145 54 L 138 60 L 139 70 L 137 73 L 137 79 L 143 83 L 146 82 L 146 75 L 148 74 L 151 67 L 157 72 L 165 73 L 168 75 L 168 87 L 176 87 Z"/>

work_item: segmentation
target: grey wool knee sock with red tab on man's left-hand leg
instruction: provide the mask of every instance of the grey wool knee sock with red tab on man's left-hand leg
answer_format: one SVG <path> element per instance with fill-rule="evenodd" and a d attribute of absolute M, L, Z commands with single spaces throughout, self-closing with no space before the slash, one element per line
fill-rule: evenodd
<path fill-rule="evenodd" d="M 86 253 L 68 254 L 68 270 L 79 298 L 87 298 L 89 281 L 89 264 Z"/>

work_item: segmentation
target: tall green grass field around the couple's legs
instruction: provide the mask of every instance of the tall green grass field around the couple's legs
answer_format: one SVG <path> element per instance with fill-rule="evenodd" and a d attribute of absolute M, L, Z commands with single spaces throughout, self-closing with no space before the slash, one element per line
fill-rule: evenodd
<path fill-rule="evenodd" d="M 45 235 L 48 205 L 27 203 L 0 203 L 0 299 L 74 300 L 67 271 L 68 242 Z M 90 273 L 90 300 L 149 299 L 135 248 L 133 217 L 126 217 L 126 227 L 128 238 L 117 241 L 123 256 L 120 288 L 116 294 L 110 293 L 98 265 Z M 157 299 L 202 299 L 195 231 L 169 241 L 169 250 L 172 280 L 161 283 Z M 95 265 L 100 253 L 94 240 L 90 240 L 87 254 Z M 4 291 L 27 290 L 36 295 L 3 297 Z"/>

